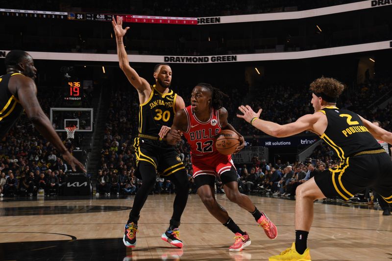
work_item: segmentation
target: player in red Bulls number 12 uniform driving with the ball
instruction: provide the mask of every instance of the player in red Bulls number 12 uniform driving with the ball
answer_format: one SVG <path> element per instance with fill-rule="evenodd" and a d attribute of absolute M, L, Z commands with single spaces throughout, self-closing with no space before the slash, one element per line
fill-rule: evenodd
<path fill-rule="evenodd" d="M 215 148 L 215 136 L 221 129 L 235 131 L 240 137 L 240 145 L 236 152 L 245 146 L 244 137 L 227 122 L 227 110 L 222 107 L 224 97 L 227 95 L 210 84 L 197 84 L 191 95 L 192 105 L 176 112 L 166 140 L 169 144 L 175 144 L 181 140 L 183 133 L 191 145 L 197 194 L 208 211 L 235 234 L 236 241 L 229 247 L 229 251 L 237 252 L 250 245 L 250 239 L 216 201 L 214 195 L 216 177 L 221 178 L 227 198 L 250 212 L 268 237 L 276 238 L 277 229 L 265 214 L 259 212 L 249 197 L 238 190 L 237 171 L 231 155 L 222 155 Z"/>

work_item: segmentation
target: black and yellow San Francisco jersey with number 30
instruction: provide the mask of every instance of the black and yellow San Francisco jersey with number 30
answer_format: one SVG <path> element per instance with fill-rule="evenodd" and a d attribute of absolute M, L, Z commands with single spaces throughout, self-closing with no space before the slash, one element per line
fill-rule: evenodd
<path fill-rule="evenodd" d="M 158 137 L 162 125 L 172 126 L 176 98 L 172 90 L 162 94 L 152 85 L 148 100 L 139 107 L 139 133 Z"/>

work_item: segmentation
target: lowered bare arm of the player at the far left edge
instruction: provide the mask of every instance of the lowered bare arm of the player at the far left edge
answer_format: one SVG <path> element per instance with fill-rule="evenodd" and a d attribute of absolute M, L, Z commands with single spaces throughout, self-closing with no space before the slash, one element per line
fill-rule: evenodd
<path fill-rule="evenodd" d="M 62 154 L 65 161 L 67 161 L 73 171 L 75 171 L 75 166 L 78 166 L 81 170 L 86 172 L 84 166 L 76 160 L 71 153 L 64 146 L 63 142 L 58 137 L 57 133 L 53 129 L 50 120 L 42 111 L 42 108 L 37 99 L 37 87 L 31 78 L 15 75 L 12 77 L 10 84 L 14 85 L 18 98 L 21 101 L 23 108 L 26 111 L 27 118 L 31 120 L 34 127 L 45 137 L 49 142 L 51 142 L 56 149 Z"/>

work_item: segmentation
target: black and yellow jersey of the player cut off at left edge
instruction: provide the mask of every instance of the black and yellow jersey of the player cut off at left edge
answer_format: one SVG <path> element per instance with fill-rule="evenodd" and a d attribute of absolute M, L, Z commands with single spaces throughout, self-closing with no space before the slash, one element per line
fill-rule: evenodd
<path fill-rule="evenodd" d="M 8 90 L 9 79 L 21 73 L 8 73 L 0 76 L 0 139 L 2 139 L 23 113 L 17 95 Z"/>

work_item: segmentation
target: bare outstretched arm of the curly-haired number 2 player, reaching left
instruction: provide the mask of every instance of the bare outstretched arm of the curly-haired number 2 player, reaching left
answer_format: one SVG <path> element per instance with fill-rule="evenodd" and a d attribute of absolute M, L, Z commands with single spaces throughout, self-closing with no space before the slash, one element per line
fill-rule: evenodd
<path fill-rule="evenodd" d="M 322 123 L 325 124 L 324 130 L 326 128 L 326 118 L 325 122 L 320 122 L 320 126 L 317 126 L 317 128 L 314 127 L 314 124 L 317 123 L 319 117 L 321 116 L 321 113 L 307 114 L 297 119 L 295 122 L 280 125 L 272 121 L 259 119 L 262 109 L 255 113 L 249 105 L 241 105 L 238 108 L 244 114 L 237 114 L 238 118 L 245 119 L 245 121 L 252 124 L 253 127 L 277 138 L 292 136 L 306 130 L 311 130 L 317 134 L 322 134 L 324 132 L 322 131 Z"/>

